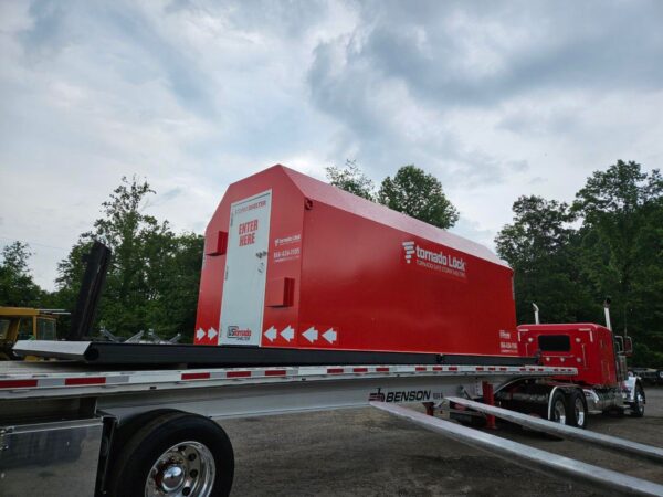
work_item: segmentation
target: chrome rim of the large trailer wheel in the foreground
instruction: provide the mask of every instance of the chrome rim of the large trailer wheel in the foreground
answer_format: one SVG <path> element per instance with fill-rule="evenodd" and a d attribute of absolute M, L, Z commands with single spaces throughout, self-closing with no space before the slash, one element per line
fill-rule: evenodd
<path fill-rule="evenodd" d="M 217 470 L 214 457 L 200 442 L 182 442 L 164 452 L 145 483 L 145 497 L 208 497 Z"/>

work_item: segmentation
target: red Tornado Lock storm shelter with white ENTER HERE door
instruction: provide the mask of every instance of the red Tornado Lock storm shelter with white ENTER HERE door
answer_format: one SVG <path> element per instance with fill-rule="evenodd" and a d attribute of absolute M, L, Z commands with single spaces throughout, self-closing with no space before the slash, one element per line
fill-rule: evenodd
<path fill-rule="evenodd" d="M 517 356 L 513 272 L 482 245 L 283 166 L 206 231 L 196 343 Z"/>

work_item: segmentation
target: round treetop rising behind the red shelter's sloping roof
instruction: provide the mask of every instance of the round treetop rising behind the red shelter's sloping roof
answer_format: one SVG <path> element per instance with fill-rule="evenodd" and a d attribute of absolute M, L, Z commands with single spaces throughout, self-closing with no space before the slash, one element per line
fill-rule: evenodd
<path fill-rule="evenodd" d="M 438 228 L 451 228 L 459 220 L 442 183 L 413 165 L 400 168 L 393 179 L 385 178 L 378 202 Z"/>

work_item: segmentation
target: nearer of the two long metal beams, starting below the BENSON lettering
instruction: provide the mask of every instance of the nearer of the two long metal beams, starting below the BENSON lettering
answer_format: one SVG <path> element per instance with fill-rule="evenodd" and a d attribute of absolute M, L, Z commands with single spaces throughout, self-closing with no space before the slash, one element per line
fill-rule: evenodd
<path fill-rule="evenodd" d="M 385 402 L 370 402 L 373 408 L 411 421 L 422 427 L 441 433 L 457 442 L 490 452 L 528 469 L 536 469 L 557 477 L 572 478 L 596 490 L 601 488 L 623 495 L 662 496 L 663 485 L 582 463 L 539 448 L 512 442 L 499 436 L 480 432 L 456 423 L 431 417 L 411 409 Z"/>

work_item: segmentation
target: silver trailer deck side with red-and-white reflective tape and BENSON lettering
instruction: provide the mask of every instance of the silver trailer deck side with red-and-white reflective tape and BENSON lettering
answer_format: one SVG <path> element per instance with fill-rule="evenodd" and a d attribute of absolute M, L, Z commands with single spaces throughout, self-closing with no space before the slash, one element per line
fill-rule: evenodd
<path fill-rule="evenodd" d="M 370 400 L 439 402 L 462 389 L 481 395 L 482 381 L 515 376 L 572 376 L 575 368 L 540 366 L 364 364 L 161 370 L 85 370 L 75 362 L 0 364 L 0 420 L 30 409 L 53 411 L 82 399 L 80 414 L 124 417 L 158 405 L 211 419 L 367 406 Z M 40 401 L 28 403 L 25 401 Z M 70 408 L 70 410 L 73 408 Z"/>

